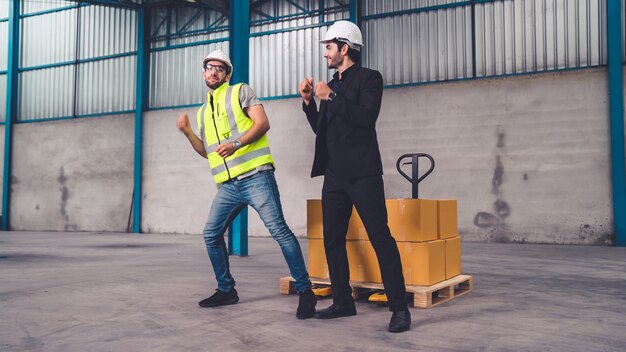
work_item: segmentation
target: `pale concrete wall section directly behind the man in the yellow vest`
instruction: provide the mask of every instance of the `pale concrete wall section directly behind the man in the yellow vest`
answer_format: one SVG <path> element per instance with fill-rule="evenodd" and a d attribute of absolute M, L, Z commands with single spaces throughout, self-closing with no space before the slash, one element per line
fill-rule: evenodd
<path fill-rule="evenodd" d="M 320 198 L 322 179 L 310 178 L 312 132 L 297 104 L 294 99 L 264 102 L 285 218 L 294 233 L 304 236 L 306 199 Z M 184 112 L 195 125 L 194 109 L 149 112 L 144 122 L 143 228 L 148 232 L 201 233 L 216 192 L 207 160 L 176 128 Z M 250 236 L 269 236 L 252 209 L 249 224 Z"/>

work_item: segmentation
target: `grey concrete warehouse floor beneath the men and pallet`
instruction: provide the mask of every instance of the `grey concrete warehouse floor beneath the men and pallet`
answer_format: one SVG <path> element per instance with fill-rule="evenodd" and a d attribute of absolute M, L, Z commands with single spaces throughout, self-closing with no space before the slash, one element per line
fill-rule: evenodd
<path fill-rule="evenodd" d="M 231 259 L 239 304 L 202 309 L 215 281 L 200 236 L 0 233 L 0 351 L 626 348 L 626 248 L 464 243 L 474 291 L 412 309 L 403 334 L 368 302 L 355 317 L 296 319 L 278 246 L 252 238 L 250 254 Z"/>

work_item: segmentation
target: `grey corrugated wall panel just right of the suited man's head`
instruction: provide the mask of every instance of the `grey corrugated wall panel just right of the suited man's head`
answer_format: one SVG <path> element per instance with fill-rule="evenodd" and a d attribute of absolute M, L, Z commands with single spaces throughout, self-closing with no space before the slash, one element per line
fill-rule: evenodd
<path fill-rule="evenodd" d="M 363 63 L 385 84 L 468 77 L 470 16 L 469 7 L 458 7 L 364 21 Z"/>

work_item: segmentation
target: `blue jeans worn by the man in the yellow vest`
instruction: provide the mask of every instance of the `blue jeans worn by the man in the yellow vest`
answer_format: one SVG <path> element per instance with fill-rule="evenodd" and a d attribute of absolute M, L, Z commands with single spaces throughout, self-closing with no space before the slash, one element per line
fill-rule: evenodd
<path fill-rule="evenodd" d="M 218 185 L 217 195 L 213 199 L 209 218 L 204 226 L 204 242 L 215 272 L 217 288 L 227 292 L 235 287 L 235 280 L 230 274 L 224 232 L 246 205 L 252 206 L 259 213 L 272 238 L 280 245 L 291 276 L 296 280 L 296 292 L 311 289 L 300 244 L 283 217 L 278 186 L 274 171 L 271 170 Z"/>

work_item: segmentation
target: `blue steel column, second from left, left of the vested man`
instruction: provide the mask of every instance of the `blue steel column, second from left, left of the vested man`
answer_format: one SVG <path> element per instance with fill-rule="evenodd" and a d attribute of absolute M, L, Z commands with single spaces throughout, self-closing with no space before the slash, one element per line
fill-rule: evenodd
<path fill-rule="evenodd" d="M 133 232 L 141 233 L 141 175 L 143 153 L 143 112 L 146 110 L 147 90 L 147 62 L 150 55 L 149 46 L 146 45 L 146 10 L 137 10 L 137 63 L 135 81 L 135 168 L 133 187 Z M 148 29 L 149 30 L 149 29 Z"/>

